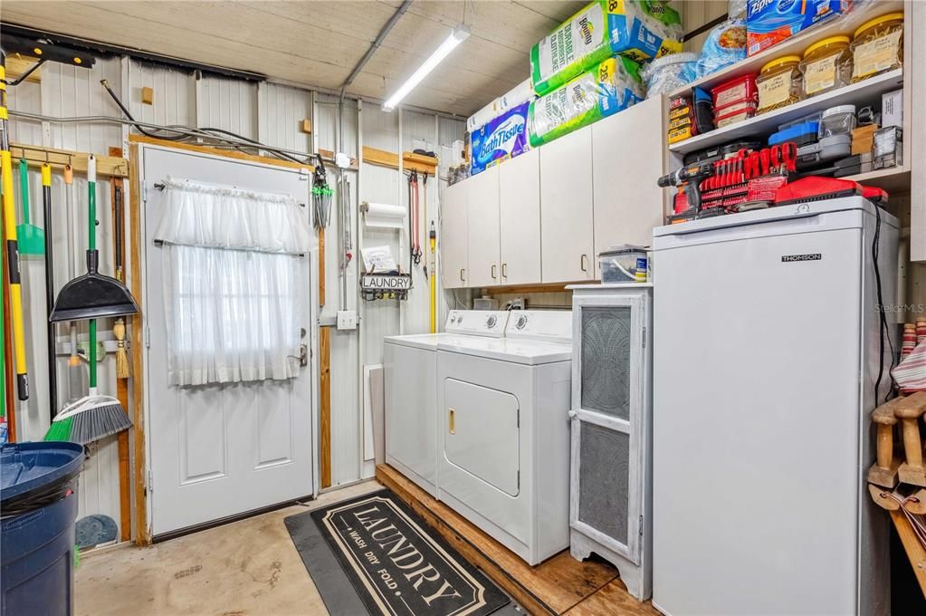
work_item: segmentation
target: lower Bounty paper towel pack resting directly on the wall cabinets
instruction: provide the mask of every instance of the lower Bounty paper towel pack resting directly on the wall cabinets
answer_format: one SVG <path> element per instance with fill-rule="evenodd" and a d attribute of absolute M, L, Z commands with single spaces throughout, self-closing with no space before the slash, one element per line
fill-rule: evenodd
<path fill-rule="evenodd" d="M 532 147 L 548 144 L 642 101 L 639 70 L 630 58 L 610 57 L 533 101 L 528 113 Z"/>

